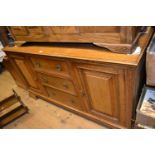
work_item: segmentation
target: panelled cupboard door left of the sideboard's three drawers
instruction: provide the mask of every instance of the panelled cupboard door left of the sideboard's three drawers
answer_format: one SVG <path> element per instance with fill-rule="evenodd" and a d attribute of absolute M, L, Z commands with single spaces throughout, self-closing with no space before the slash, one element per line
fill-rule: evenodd
<path fill-rule="evenodd" d="M 10 57 L 14 62 L 14 64 L 16 65 L 16 68 L 18 68 L 18 70 L 23 75 L 30 89 L 41 92 L 40 87 L 38 86 L 36 81 L 37 78 L 34 75 L 34 72 L 32 71 L 31 67 L 29 66 L 28 60 L 23 56 L 17 56 L 17 55 L 11 55 Z"/>

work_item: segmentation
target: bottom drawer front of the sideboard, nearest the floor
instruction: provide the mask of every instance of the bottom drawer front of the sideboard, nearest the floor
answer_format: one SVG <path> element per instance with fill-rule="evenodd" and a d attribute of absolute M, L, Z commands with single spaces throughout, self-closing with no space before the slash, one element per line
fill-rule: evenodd
<path fill-rule="evenodd" d="M 47 90 L 47 93 L 51 99 L 53 99 L 55 102 L 58 102 L 63 105 L 68 105 L 77 109 L 81 108 L 81 103 L 78 97 L 74 95 L 70 95 L 68 93 L 64 93 L 62 91 L 52 89 L 50 87 L 45 87 Z"/>

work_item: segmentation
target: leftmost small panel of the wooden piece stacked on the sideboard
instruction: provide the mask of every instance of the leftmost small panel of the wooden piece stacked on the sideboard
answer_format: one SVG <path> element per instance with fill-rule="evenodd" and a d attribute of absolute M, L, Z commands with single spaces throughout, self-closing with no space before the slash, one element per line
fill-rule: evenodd
<path fill-rule="evenodd" d="M 12 26 L 11 31 L 15 36 L 25 36 L 28 35 L 28 31 L 24 26 Z"/>

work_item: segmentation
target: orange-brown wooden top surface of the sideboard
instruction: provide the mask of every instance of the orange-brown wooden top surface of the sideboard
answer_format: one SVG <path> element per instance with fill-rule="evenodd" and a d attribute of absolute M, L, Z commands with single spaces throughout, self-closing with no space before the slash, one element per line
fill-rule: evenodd
<path fill-rule="evenodd" d="M 118 54 L 112 53 L 106 49 L 98 48 L 95 46 L 55 46 L 55 44 L 49 43 L 46 44 L 33 44 L 26 46 L 14 46 L 14 47 L 5 47 L 3 50 L 7 52 L 16 52 L 16 53 L 27 53 L 27 54 L 36 54 L 44 56 L 52 56 L 59 58 L 73 58 L 79 60 L 90 60 L 97 62 L 110 62 L 117 64 L 126 64 L 136 66 L 141 59 L 144 50 L 141 50 L 140 54 Z"/>

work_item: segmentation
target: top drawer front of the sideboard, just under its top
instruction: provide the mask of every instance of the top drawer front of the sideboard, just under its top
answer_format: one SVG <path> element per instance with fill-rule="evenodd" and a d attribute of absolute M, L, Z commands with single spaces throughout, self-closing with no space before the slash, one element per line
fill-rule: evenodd
<path fill-rule="evenodd" d="M 62 75 L 69 75 L 69 69 L 65 62 L 46 58 L 31 58 L 35 69 L 46 72 Z"/>

